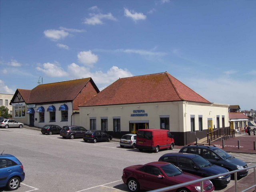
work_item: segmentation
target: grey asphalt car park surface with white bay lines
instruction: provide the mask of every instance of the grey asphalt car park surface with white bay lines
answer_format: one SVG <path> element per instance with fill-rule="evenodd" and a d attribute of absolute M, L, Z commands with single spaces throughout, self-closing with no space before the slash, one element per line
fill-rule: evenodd
<path fill-rule="evenodd" d="M 26 128 L 1 128 L 0 136 L 1 152 L 13 154 L 24 166 L 26 178 L 18 192 L 128 192 L 121 178 L 125 167 L 157 161 L 163 154 L 180 150 L 174 147 L 158 153 L 140 152 L 121 148 L 119 141 L 84 142 L 82 138 L 70 140 Z M 256 165 L 256 155 L 249 158 L 248 166 Z M 215 191 L 224 192 L 232 185 L 234 180 Z M 0 192 L 5 191 L 0 188 Z"/>

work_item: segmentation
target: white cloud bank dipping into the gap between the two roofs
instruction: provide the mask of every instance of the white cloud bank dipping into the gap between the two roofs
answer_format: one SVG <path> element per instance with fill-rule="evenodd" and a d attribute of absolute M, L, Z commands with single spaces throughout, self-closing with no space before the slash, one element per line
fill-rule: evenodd
<path fill-rule="evenodd" d="M 92 77 L 96 84 L 100 84 L 104 87 L 118 80 L 118 78 L 130 77 L 132 74 L 127 69 L 120 69 L 117 66 L 112 66 L 106 73 L 102 71 L 90 72 L 89 68 L 79 66 L 72 63 L 68 66 L 68 72 L 70 76 L 74 78 L 86 78 Z"/>

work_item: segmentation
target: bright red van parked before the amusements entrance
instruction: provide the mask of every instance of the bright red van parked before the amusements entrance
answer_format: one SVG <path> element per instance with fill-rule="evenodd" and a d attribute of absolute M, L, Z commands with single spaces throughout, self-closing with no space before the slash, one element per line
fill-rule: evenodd
<path fill-rule="evenodd" d="M 165 129 L 139 129 L 136 138 L 136 148 L 140 151 L 153 150 L 155 153 L 159 149 L 173 149 L 174 138 L 169 130 Z"/>

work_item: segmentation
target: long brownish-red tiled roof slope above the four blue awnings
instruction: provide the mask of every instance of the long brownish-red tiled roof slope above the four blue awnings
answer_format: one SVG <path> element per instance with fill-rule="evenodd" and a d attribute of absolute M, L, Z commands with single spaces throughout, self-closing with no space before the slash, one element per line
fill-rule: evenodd
<path fill-rule="evenodd" d="M 41 84 L 31 90 L 28 104 L 39 104 L 49 102 L 68 102 L 76 98 L 78 93 L 92 80 L 82 78 L 57 83 Z M 96 87 L 96 89 L 98 89 Z"/>

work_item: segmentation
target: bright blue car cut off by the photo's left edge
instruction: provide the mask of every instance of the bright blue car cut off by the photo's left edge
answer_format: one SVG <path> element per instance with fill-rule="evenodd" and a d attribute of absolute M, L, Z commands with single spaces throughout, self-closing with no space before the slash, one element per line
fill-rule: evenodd
<path fill-rule="evenodd" d="M 11 154 L 0 154 L 0 187 L 16 190 L 24 178 L 21 162 Z"/>

